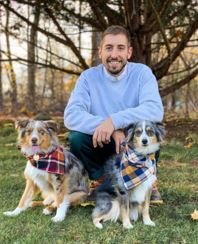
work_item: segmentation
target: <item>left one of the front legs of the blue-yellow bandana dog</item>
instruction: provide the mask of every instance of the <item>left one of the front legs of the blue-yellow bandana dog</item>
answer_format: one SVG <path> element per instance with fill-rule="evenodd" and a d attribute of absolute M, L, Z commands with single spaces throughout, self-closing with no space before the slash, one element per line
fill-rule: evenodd
<path fill-rule="evenodd" d="M 123 227 L 125 229 L 131 229 L 133 228 L 133 225 L 131 224 L 130 218 L 129 218 L 129 198 L 128 194 L 126 192 L 120 193 L 120 210 L 121 210 L 121 218 Z"/>

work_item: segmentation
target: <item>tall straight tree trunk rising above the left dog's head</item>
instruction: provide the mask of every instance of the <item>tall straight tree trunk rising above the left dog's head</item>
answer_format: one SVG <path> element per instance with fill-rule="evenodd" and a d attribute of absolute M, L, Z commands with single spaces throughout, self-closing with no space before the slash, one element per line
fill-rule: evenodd
<path fill-rule="evenodd" d="M 36 110 L 36 64 L 35 64 L 35 49 L 37 45 L 37 26 L 39 24 L 40 5 L 36 5 L 34 14 L 34 25 L 31 26 L 30 36 L 28 40 L 28 84 L 27 84 L 27 109 L 29 111 Z"/>

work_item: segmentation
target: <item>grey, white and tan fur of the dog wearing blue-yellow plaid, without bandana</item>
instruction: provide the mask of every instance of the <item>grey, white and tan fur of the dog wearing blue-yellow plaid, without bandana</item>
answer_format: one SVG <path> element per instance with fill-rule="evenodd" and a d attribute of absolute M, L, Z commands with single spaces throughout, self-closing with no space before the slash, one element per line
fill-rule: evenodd
<path fill-rule="evenodd" d="M 160 142 L 165 134 L 161 123 L 149 121 L 130 125 L 126 129 L 126 143 L 138 153 L 148 155 L 159 150 Z M 97 228 L 103 228 L 102 221 L 116 222 L 119 218 L 123 227 L 132 228 L 131 220 L 136 221 L 142 214 L 145 225 L 154 226 L 149 216 L 149 202 L 152 190 L 152 176 L 131 190 L 126 190 L 116 162 L 120 161 L 122 153 L 114 155 L 106 162 L 105 176 L 110 180 L 113 191 L 108 189 L 96 191 L 96 206 L 92 213 L 93 223 Z"/>

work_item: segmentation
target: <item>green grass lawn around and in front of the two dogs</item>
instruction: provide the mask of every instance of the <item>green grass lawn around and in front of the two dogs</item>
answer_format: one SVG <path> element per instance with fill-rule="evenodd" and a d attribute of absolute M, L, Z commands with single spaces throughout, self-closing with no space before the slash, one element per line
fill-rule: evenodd
<path fill-rule="evenodd" d="M 16 133 L 11 125 L 0 128 L 0 243 L 87 243 L 87 244 L 158 244 L 198 243 L 198 221 L 190 214 L 198 208 L 198 138 L 191 148 L 178 141 L 163 145 L 158 167 L 159 188 L 164 204 L 151 206 L 156 227 L 139 220 L 131 230 L 121 223 L 105 223 L 103 230 L 94 227 L 92 207 L 73 207 L 61 223 L 53 223 L 42 214 L 42 207 L 28 209 L 8 218 L 25 186 L 25 160 L 16 149 Z"/>

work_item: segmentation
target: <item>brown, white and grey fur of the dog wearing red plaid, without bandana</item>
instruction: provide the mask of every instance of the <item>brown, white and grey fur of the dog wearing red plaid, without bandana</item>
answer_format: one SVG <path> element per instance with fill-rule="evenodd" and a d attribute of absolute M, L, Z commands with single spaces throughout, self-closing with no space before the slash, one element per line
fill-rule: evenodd
<path fill-rule="evenodd" d="M 26 156 L 35 153 L 50 153 L 58 146 L 58 125 L 54 121 L 24 120 L 17 121 L 18 144 Z M 36 152 L 35 152 L 36 146 Z M 33 150 L 34 148 L 34 150 Z M 70 152 L 64 149 L 65 174 L 51 174 L 32 166 L 28 160 L 24 171 L 26 187 L 18 207 L 8 211 L 7 216 L 16 216 L 28 207 L 44 205 L 45 215 L 56 210 L 52 221 L 64 220 L 68 207 L 86 199 L 89 192 L 88 174 L 82 163 Z M 33 197 L 41 193 L 44 200 L 33 202 Z"/>

